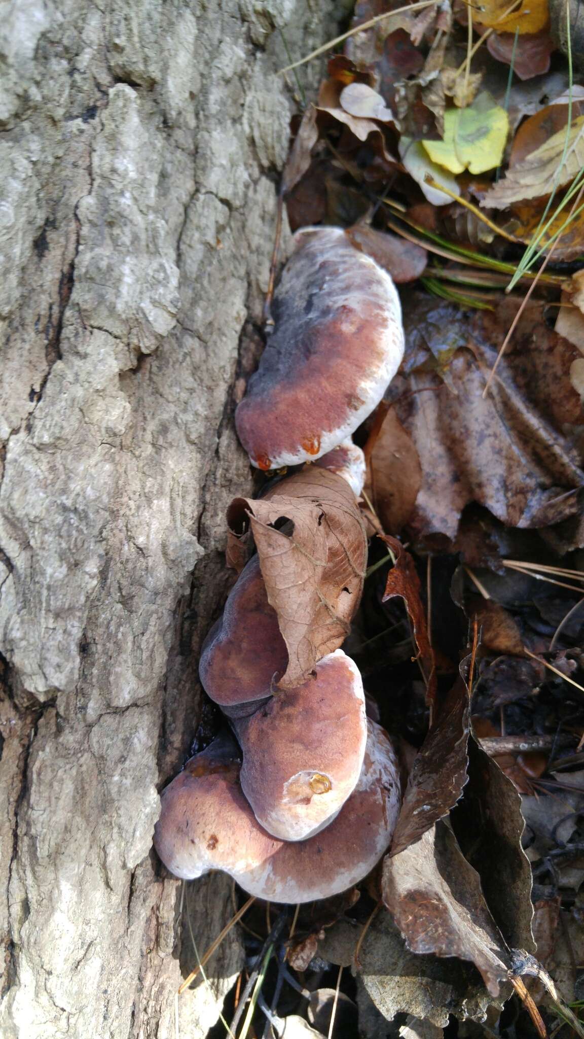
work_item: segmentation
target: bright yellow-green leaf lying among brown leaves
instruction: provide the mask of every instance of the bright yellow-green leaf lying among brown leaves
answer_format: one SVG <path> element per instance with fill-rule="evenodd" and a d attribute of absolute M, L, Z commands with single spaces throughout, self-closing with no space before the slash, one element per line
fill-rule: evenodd
<path fill-rule="evenodd" d="M 501 163 L 508 132 L 507 112 L 483 91 L 468 108 L 445 111 L 444 140 L 422 144 L 433 162 L 452 174 L 484 174 Z"/>

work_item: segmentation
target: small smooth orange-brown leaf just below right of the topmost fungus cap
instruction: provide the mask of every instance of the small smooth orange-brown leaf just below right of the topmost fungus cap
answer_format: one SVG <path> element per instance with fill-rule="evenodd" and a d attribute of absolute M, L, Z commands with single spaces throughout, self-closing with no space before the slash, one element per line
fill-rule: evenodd
<path fill-rule="evenodd" d="M 366 452 L 366 494 L 383 530 L 394 534 L 405 527 L 422 484 L 418 451 L 401 425 L 395 408 L 381 401 L 386 417 L 371 450 Z"/>

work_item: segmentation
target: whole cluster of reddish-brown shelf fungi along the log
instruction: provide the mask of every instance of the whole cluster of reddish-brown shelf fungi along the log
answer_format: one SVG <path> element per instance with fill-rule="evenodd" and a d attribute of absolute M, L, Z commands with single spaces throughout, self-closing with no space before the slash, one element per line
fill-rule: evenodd
<path fill-rule="evenodd" d="M 309 902 L 373 869 L 399 810 L 391 741 L 341 645 L 367 564 L 350 434 L 395 374 L 403 334 L 391 278 L 334 228 L 297 233 L 273 311 L 237 430 L 256 467 L 316 464 L 228 510 L 234 558 L 256 554 L 200 675 L 229 729 L 164 790 L 155 847 L 178 877 L 223 870 L 251 895 Z"/>

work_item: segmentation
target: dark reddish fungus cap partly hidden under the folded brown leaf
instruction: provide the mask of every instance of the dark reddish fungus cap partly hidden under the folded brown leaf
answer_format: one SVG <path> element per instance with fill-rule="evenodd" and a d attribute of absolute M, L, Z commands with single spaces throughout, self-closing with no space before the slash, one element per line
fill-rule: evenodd
<path fill-rule="evenodd" d="M 211 629 L 198 664 L 206 693 L 224 714 L 251 714 L 288 665 L 286 643 L 269 605 L 258 556 L 233 586 L 222 617 Z"/>

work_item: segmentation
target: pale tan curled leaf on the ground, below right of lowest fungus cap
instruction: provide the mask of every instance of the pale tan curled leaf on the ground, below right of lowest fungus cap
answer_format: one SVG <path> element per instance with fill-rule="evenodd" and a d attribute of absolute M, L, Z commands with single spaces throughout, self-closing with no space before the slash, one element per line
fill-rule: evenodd
<path fill-rule="evenodd" d="M 386 857 L 383 903 L 414 953 L 457 956 L 481 973 L 499 995 L 510 960 L 487 908 L 476 870 L 444 822 L 399 855 Z"/>

